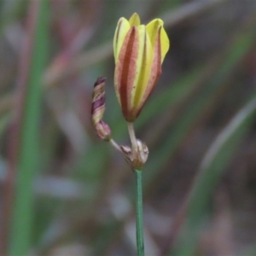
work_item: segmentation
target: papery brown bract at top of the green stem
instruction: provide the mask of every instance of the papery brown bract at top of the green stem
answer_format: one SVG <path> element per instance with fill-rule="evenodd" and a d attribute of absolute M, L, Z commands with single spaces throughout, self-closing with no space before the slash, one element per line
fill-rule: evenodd
<path fill-rule="evenodd" d="M 137 139 L 137 146 L 132 149 L 129 146 L 120 146 L 125 160 L 133 170 L 141 170 L 148 159 L 148 147 L 141 140 Z"/>

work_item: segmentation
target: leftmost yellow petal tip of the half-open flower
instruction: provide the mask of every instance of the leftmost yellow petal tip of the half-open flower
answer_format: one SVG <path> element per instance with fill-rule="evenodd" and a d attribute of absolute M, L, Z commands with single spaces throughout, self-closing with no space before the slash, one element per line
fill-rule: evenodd
<path fill-rule="evenodd" d="M 113 56 L 116 63 L 120 49 L 124 43 L 125 36 L 131 28 L 130 23 L 125 18 L 120 18 L 113 37 Z"/>

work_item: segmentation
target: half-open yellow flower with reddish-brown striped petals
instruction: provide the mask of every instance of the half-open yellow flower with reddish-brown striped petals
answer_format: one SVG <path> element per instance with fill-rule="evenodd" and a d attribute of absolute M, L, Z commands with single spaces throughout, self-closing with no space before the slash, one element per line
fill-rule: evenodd
<path fill-rule="evenodd" d="M 169 39 L 160 19 L 140 25 L 137 14 L 120 18 L 113 38 L 114 88 L 128 122 L 141 112 L 161 74 Z"/>

